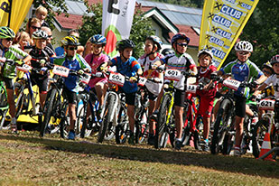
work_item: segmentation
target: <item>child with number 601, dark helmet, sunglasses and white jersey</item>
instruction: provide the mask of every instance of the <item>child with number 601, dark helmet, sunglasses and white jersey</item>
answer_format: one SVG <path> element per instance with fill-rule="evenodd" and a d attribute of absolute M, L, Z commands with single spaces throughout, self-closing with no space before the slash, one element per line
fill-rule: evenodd
<path fill-rule="evenodd" d="M 190 38 L 184 33 L 176 33 L 172 37 L 172 48 L 175 53 L 168 54 L 159 63 L 161 65 L 165 64 L 166 69 L 175 69 L 187 72 L 192 71 L 193 74 L 197 74 L 197 66 L 194 60 L 191 58 L 191 55 L 186 53 L 187 46 L 190 42 Z M 184 100 L 185 100 L 185 90 L 184 90 L 185 77 L 183 76 L 181 80 L 174 82 L 174 113 L 175 113 L 175 127 L 176 127 L 176 140 L 174 148 L 180 150 L 182 146 L 182 126 L 183 126 L 183 111 L 184 111 Z M 158 99 L 161 100 L 163 96 L 163 89 L 160 92 Z M 153 112 L 153 118 L 156 118 L 158 115 L 158 107 L 160 106 L 160 101 L 156 104 L 156 110 Z"/>

